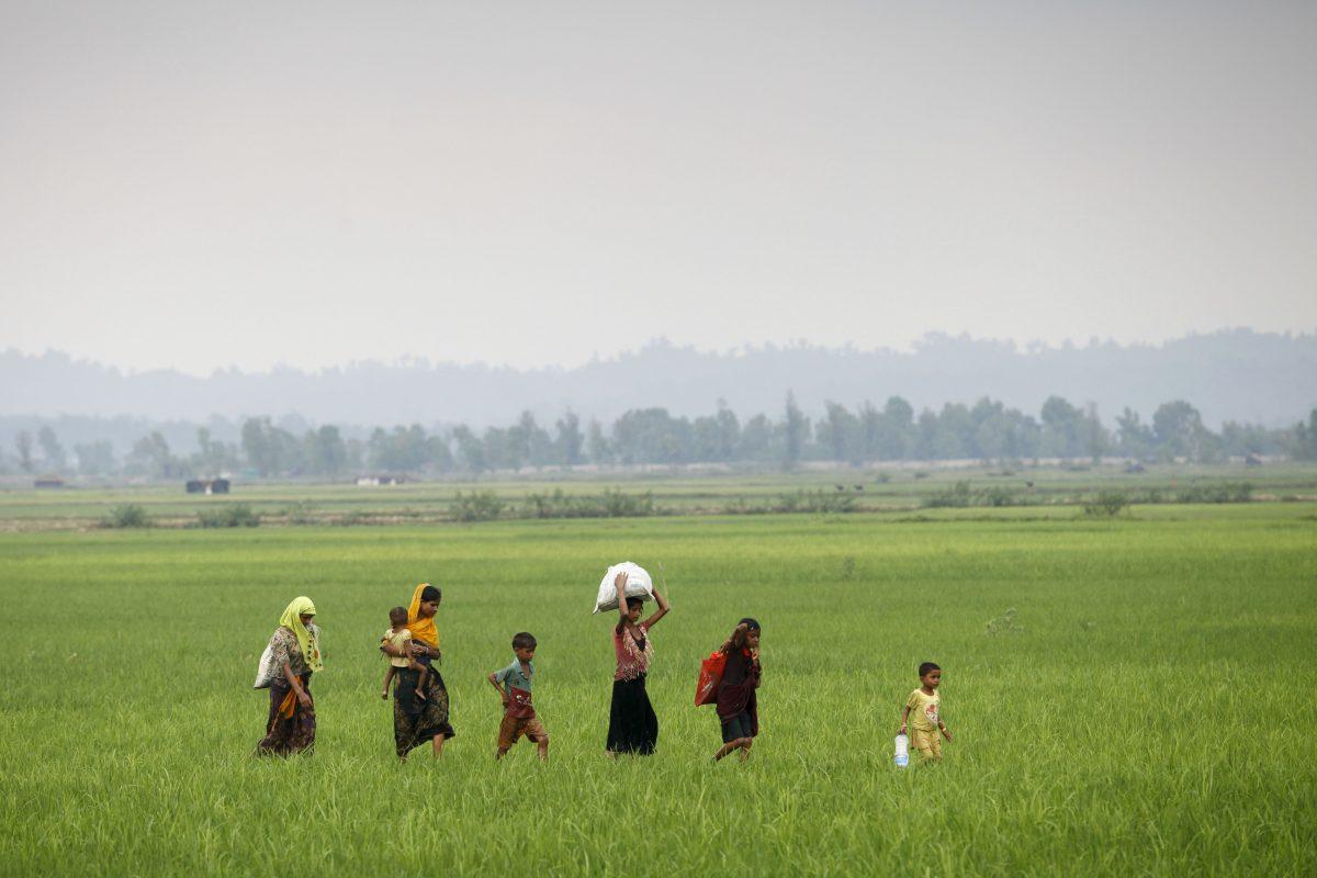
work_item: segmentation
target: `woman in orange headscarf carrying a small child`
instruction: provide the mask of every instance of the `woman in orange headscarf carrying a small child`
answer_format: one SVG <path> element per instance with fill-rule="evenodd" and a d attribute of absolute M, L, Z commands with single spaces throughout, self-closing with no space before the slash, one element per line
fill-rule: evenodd
<path fill-rule="evenodd" d="M 425 675 L 421 690 L 424 698 L 416 698 L 420 671 L 398 669 L 395 677 L 398 682 L 394 687 L 394 748 L 400 760 L 406 760 L 412 749 L 425 741 L 433 745 L 435 756 L 439 757 L 444 752 L 444 741 L 456 735 L 448 723 L 448 690 L 439 669 L 433 666 L 440 658 L 435 613 L 439 612 L 439 602 L 443 598 L 437 586 L 423 582 L 416 586 L 411 606 L 407 608 L 412 657 L 417 663 L 429 667 L 429 674 Z M 381 642 L 379 649 L 389 656 L 402 656 L 400 648 L 387 641 Z"/>

